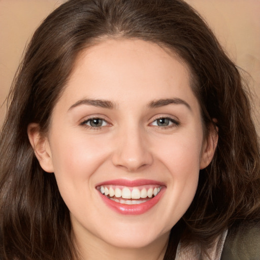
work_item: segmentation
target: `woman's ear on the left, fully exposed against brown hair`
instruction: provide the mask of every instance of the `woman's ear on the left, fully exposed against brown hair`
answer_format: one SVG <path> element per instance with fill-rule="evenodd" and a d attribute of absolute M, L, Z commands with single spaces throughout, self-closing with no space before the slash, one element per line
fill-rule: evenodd
<path fill-rule="evenodd" d="M 49 140 L 42 136 L 37 123 L 30 123 L 27 127 L 27 135 L 35 155 L 45 172 L 53 173 L 53 164 Z"/>

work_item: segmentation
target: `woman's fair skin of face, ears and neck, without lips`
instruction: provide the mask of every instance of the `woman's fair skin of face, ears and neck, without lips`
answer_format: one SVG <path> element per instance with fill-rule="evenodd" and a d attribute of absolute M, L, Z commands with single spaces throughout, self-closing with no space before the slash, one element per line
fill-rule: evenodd
<path fill-rule="evenodd" d="M 203 136 L 190 73 L 176 55 L 141 40 L 106 40 L 84 50 L 54 107 L 48 135 L 28 126 L 42 168 L 54 172 L 83 259 L 163 259 L 210 163 L 217 134 Z M 181 104 L 152 107 L 160 99 Z M 83 104 L 110 101 L 113 108 Z M 86 103 L 86 102 L 85 102 Z M 91 128 L 89 118 L 105 121 Z M 168 126 L 158 117 L 170 118 Z M 87 121 L 88 120 L 88 121 Z M 113 179 L 163 182 L 159 202 L 140 215 L 107 207 L 96 185 Z"/>

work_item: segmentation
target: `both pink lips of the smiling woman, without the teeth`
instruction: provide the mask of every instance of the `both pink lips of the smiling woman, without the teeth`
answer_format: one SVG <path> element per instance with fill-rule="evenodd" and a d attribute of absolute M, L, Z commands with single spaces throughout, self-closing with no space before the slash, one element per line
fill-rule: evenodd
<path fill-rule="evenodd" d="M 140 215 L 148 210 L 150 210 L 153 206 L 157 204 L 157 202 L 161 199 L 161 197 L 164 194 L 165 191 L 165 184 L 153 181 L 153 180 L 135 180 L 135 181 L 129 181 L 124 179 L 118 179 L 118 180 L 111 180 L 99 183 L 96 186 L 102 186 L 102 185 L 120 185 L 120 186 L 128 186 L 128 187 L 136 187 L 141 185 L 149 185 L 149 184 L 156 184 L 163 186 L 160 192 L 153 197 L 152 199 L 148 200 L 147 202 L 141 203 L 141 204 L 134 204 L 134 205 L 127 205 L 127 204 L 121 204 L 115 201 L 110 200 L 105 195 L 103 195 L 101 192 L 99 192 L 101 199 L 103 202 L 112 210 L 116 211 L 117 213 L 123 214 L 123 215 Z"/>

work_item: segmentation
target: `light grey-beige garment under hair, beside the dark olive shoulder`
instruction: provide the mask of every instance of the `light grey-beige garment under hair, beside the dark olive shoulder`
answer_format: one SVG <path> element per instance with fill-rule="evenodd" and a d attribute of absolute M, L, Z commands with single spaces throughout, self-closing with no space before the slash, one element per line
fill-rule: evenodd
<path fill-rule="evenodd" d="M 179 243 L 175 260 L 220 260 L 227 234 L 228 230 L 217 237 L 214 245 L 207 252 L 210 257 L 204 256 L 204 258 L 202 258 L 201 250 L 197 244 L 188 245 L 187 247 L 183 248 L 181 243 Z"/>

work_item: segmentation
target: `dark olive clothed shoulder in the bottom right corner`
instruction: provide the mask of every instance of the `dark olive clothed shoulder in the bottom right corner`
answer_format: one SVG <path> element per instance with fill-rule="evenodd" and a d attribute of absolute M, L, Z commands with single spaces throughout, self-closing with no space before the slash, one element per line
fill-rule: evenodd
<path fill-rule="evenodd" d="M 234 225 L 228 232 L 220 260 L 259 260 L 260 222 Z"/>

